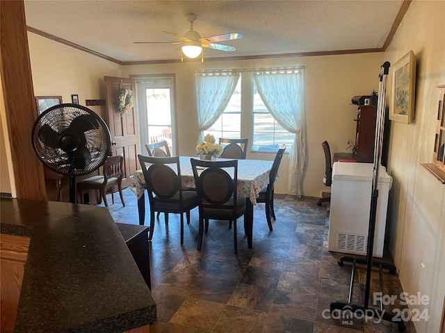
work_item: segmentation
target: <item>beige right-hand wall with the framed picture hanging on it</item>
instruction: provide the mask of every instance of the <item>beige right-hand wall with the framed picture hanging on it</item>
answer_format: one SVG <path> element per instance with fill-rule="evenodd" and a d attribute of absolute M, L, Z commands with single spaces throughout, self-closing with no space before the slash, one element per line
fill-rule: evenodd
<path fill-rule="evenodd" d="M 416 55 L 414 121 L 391 121 L 388 171 L 393 188 L 388 214 L 391 252 L 403 289 L 430 298 L 430 320 L 415 322 L 417 332 L 439 332 L 445 293 L 445 185 L 421 167 L 432 162 L 436 86 L 445 84 L 444 17 L 445 1 L 413 1 L 385 53 L 392 64 L 410 50 Z M 425 275 L 420 281 L 422 263 Z"/>

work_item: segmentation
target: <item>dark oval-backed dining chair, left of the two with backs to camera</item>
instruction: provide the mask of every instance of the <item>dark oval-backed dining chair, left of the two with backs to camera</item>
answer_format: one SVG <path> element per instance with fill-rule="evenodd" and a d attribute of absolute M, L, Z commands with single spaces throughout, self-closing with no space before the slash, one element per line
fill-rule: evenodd
<path fill-rule="evenodd" d="M 154 212 L 181 214 L 181 245 L 184 244 L 184 213 L 190 223 L 190 211 L 197 207 L 196 191 L 182 189 L 178 156 L 154 157 L 138 155 L 150 204 L 149 240 L 153 238 Z"/>

